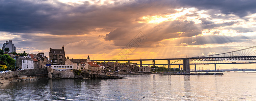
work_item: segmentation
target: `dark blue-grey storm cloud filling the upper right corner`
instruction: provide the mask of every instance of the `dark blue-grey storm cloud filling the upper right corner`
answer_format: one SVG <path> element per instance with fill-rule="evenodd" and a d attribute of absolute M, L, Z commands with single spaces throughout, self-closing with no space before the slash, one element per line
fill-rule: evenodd
<path fill-rule="evenodd" d="M 255 0 L 178 0 L 180 5 L 198 9 L 220 10 L 224 14 L 244 17 L 256 12 Z"/>

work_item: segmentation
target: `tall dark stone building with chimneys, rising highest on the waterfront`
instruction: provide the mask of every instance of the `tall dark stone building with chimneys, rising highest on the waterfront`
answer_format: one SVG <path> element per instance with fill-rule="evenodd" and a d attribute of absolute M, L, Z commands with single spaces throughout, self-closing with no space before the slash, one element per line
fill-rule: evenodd
<path fill-rule="evenodd" d="M 49 55 L 51 65 L 65 65 L 64 45 L 62 46 L 62 49 L 52 49 L 51 47 Z"/>

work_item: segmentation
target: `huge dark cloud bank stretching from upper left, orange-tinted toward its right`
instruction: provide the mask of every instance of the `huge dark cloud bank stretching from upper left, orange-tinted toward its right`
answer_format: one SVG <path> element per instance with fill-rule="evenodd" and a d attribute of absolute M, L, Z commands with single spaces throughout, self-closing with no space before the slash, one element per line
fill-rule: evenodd
<path fill-rule="evenodd" d="M 108 5 L 68 5 L 57 1 L 0 1 L 0 31 L 18 33 L 88 34 L 95 28 L 112 31 L 145 15 L 175 12 L 170 2 L 135 1 Z"/>

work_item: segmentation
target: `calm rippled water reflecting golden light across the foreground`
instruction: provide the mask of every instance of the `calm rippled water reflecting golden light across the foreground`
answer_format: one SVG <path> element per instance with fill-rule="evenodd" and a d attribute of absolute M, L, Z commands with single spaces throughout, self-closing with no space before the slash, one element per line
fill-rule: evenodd
<path fill-rule="evenodd" d="M 121 75 L 128 79 L 50 79 L 0 87 L 1 100 L 256 100 L 256 73 Z M 145 98 L 143 98 L 145 97 Z"/>

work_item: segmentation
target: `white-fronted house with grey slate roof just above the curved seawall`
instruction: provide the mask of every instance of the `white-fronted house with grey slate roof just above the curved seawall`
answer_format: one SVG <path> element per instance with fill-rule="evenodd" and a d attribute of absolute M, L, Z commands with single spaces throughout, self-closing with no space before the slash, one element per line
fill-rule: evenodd
<path fill-rule="evenodd" d="M 34 69 L 34 61 L 27 56 L 20 56 L 16 59 L 16 66 L 20 69 Z"/>

